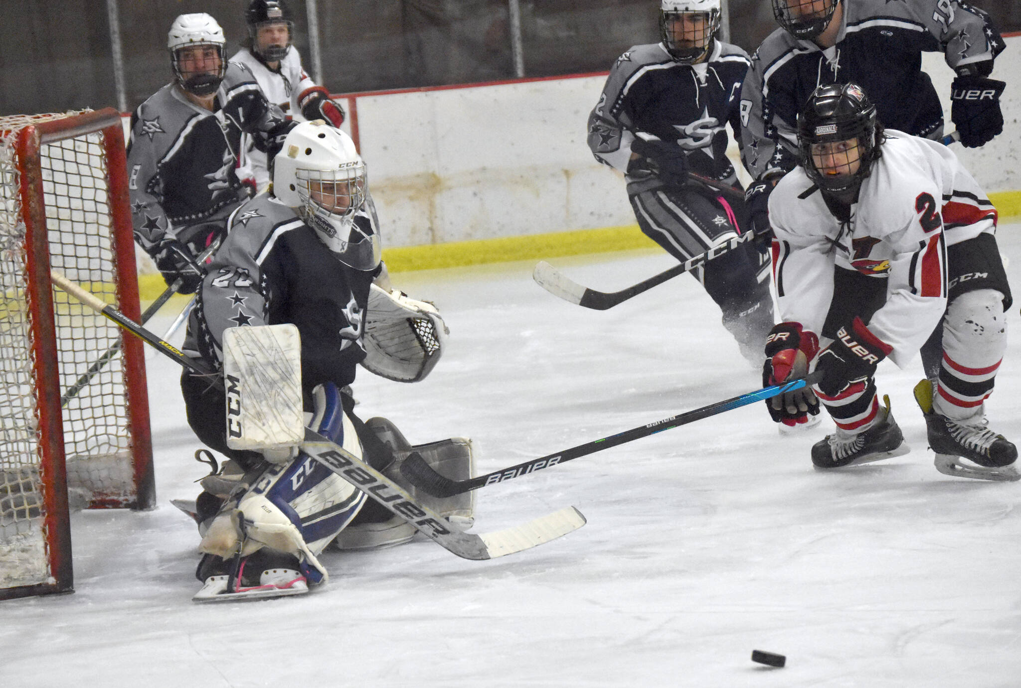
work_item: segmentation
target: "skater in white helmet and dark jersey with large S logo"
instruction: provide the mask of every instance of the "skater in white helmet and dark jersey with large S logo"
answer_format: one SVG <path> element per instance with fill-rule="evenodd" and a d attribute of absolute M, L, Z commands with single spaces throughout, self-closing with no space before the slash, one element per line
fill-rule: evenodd
<path fill-rule="evenodd" d="M 743 204 L 701 186 L 688 171 L 737 186 L 727 131 L 740 128 L 737 101 L 748 56 L 716 38 L 719 0 L 663 0 L 662 43 L 618 58 L 589 115 L 596 159 L 625 174 L 642 232 L 687 260 L 744 231 Z M 773 326 L 769 273 L 750 244 L 695 271 L 723 324 L 750 361 Z"/>

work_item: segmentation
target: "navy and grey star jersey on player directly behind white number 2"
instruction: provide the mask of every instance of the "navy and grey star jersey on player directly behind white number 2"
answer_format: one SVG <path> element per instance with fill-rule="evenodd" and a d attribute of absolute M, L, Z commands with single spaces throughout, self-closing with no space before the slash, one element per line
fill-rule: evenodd
<path fill-rule="evenodd" d="M 958 0 L 845 0 L 841 6 L 833 47 L 777 29 L 751 56 L 740 111 L 741 157 L 752 178 L 796 164 L 797 113 L 818 86 L 854 82 L 876 104 L 884 127 L 939 138 L 942 105 L 922 71 L 922 52 L 941 51 L 957 70 L 988 73 L 1005 47 L 985 12 Z"/>

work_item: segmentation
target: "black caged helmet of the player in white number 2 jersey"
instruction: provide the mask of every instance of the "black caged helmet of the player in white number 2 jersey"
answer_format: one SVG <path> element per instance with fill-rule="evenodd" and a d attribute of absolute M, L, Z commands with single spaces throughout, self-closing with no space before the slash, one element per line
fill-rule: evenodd
<path fill-rule="evenodd" d="M 871 173 L 882 139 L 876 106 L 857 84 L 820 86 L 797 115 L 797 146 L 806 174 L 823 192 L 845 196 L 843 200 L 853 197 Z M 840 142 L 852 142 L 840 151 L 846 155 L 846 169 L 824 165 L 827 170 L 821 170 L 816 160 L 822 157 L 820 144 Z"/>

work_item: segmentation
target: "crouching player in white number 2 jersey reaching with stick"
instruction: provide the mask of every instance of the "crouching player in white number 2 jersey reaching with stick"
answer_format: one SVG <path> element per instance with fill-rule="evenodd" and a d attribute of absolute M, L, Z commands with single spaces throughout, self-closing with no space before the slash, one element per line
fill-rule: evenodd
<path fill-rule="evenodd" d="M 883 130 L 855 84 L 820 87 L 797 120 L 800 164 L 769 202 L 782 322 L 766 344 L 776 384 L 814 389 L 836 432 L 812 448 L 833 469 L 908 451 L 879 404 L 878 363 L 909 363 L 942 324 L 942 367 L 916 397 L 942 473 L 1017 480 L 1016 447 L 986 427 L 984 402 L 1007 347 L 1010 287 L 996 211 L 953 152 Z M 767 402 L 774 420 L 818 412 L 812 392 Z"/>

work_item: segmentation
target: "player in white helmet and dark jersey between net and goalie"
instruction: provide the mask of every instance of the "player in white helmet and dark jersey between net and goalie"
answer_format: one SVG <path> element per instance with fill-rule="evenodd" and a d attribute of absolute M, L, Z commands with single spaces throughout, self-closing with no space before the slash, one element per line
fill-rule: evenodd
<path fill-rule="evenodd" d="M 227 216 L 247 198 L 235 174 L 242 133 L 272 150 L 294 126 L 245 66 L 228 64 L 224 43 L 208 14 L 177 17 L 167 38 L 174 82 L 132 114 L 135 239 L 168 285 L 183 281 L 184 294 L 202 279 L 195 256 L 222 238 Z"/>

